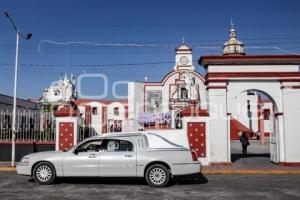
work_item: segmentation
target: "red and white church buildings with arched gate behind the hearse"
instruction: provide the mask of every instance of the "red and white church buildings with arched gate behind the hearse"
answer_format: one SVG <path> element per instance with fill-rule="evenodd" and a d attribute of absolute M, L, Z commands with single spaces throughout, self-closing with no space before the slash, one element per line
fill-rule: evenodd
<path fill-rule="evenodd" d="M 84 124 L 93 134 L 155 131 L 196 150 L 204 165 L 229 164 L 230 140 L 246 132 L 269 137 L 272 162 L 300 165 L 300 56 L 246 55 L 232 28 L 223 55 L 200 57 L 205 76 L 192 61 L 183 42 L 170 72 L 129 82 L 126 101 L 77 99 L 75 114 L 58 110 L 57 149 L 77 143 Z"/>

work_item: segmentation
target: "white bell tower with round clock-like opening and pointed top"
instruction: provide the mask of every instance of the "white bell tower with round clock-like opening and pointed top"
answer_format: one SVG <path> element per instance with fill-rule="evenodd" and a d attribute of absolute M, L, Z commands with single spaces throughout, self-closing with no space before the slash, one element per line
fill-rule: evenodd
<path fill-rule="evenodd" d="M 193 50 L 186 45 L 183 38 L 180 47 L 175 49 L 174 70 L 194 70 L 192 52 Z"/>

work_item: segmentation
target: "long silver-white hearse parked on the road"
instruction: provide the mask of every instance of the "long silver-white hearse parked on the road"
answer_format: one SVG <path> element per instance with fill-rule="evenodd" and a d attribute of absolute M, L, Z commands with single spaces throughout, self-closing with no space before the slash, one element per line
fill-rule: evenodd
<path fill-rule="evenodd" d="M 164 187 L 173 176 L 200 173 L 197 154 L 155 133 L 111 133 L 88 138 L 73 148 L 33 153 L 17 172 L 40 184 L 56 177 L 145 177 Z"/>

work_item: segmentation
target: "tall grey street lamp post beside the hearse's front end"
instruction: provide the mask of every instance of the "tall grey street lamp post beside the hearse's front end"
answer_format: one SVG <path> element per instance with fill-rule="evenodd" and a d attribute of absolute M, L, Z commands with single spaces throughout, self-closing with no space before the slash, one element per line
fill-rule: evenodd
<path fill-rule="evenodd" d="M 17 80 L 18 80 L 18 57 L 19 57 L 19 38 L 29 40 L 32 36 L 31 33 L 23 35 L 17 29 L 14 21 L 9 16 L 8 12 L 4 12 L 5 17 L 8 18 L 10 24 L 16 31 L 17 35 L 17 44 L 16 44 L 16 57 L 15 57 L 15 79 L 14 79 L 14 108 L 13 108 L 13 122 L 12 122 L 12 138 L 11 138 L 11 166 L 15 166 L 15 150 L 16 150 L 16 112 L 17 112 Z"/>

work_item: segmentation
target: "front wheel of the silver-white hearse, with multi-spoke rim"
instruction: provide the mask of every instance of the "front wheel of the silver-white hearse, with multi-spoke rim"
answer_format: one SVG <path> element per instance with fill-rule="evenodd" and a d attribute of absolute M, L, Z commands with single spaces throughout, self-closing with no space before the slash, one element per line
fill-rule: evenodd
<path fill-rule="evenodd" d="M 33 169 L 33 178 L 41 185 L 49 185 L 56 178 L 55 168 L 48 162 L 40 162 Z"/>

